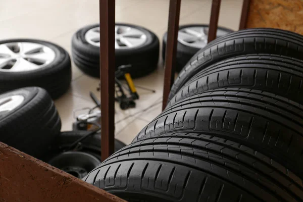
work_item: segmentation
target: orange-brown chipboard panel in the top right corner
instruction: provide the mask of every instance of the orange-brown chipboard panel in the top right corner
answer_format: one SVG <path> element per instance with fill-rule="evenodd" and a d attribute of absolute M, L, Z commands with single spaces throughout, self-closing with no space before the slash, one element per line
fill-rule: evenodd
<path fill-rule="evenodd" d="M 271 27 L 303 34 L 303 0 L 250 0 L 246 27 Z"/>

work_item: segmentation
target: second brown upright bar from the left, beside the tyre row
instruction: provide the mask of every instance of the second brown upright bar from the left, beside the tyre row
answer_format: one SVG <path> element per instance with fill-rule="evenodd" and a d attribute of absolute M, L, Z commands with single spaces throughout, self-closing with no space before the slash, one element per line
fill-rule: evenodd
<path fill-rule="evenodd" d="M 165 75 L 164 75 L 162 110 L 164 110 L 166 107 L 168 95 L 173 85 L 174 77 L 175 77 L 180 7 L 181 7 L 181 0 L 170 0 L 167 44 L 166 44 L 166 53 L 165 53 Z"/>

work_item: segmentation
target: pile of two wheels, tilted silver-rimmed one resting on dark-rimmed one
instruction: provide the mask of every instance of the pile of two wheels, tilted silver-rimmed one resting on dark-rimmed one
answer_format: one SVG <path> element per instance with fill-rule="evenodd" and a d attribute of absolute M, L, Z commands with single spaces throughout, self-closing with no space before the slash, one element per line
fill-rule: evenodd
<path fill-rule="evenodd" d="M 0 142 L 83 178 L 101 163 L 101 135 L 60 130 L 60 116 L 45 89 L 25 87 L 0 94 Z M 124 146 L 115 140 L 116 151 Z"/>

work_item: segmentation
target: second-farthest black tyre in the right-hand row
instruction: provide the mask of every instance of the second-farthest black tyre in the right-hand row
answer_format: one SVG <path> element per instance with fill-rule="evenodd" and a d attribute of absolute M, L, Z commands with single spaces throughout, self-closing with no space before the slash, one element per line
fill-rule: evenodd
<path fill-rule="evenodd" d="M 224 87 L 259 89 L 303 104 L 303 61 L 267 54 L 237 56 L 201 70 L 170 100 Z"/>

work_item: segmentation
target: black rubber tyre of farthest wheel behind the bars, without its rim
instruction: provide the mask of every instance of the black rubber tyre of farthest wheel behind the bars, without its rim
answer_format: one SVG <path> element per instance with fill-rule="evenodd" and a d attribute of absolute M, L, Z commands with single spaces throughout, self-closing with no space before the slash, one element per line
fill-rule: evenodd
<path fill-rule="evenodd" d="M 179 26 L 179 30 L 186 27 L 195 27 L 195 26 L 204 26 L 208 27 L 207 24 L 188 24 Z M 227 32 L 233 32 L 233 30 L 219 27 L 222 30 Z M 166 53 L 166 43 L 167 43 L 167 32 L 163 35 L 162 39 L 162 59 L 165 61 L 165 53 Z M 177 53 L 176 53 L 176 72 L 180 72 L 182 68 L 186 65 L 186 63 L 199 51 L 200 48 L 190 47 L 184 45 L 178 41 L 177 43 Z"/>

